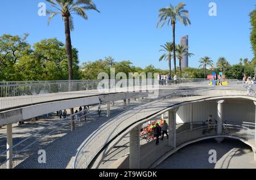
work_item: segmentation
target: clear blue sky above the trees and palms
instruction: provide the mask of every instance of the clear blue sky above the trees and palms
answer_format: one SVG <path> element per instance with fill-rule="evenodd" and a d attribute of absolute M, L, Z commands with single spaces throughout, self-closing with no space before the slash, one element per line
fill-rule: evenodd
<path fill-rule="evenodd" d="M 28 42 L 57 37 L 65 42 L 64 22 L 60 16 L 47 26 L 47 16 L 38 16 L 38 3 L 44 0 L 2 0 L 0 35 L 29 33 Z M 156 29 L 159 8 L 180 0 L 94 0 L 98 10 L 88 11 L 88 20 L 74 17 L 72 45 L 79 50 L 80 62 L 112 56 L 117 61 L 130 60 L 135 66 L 154 65 L 168 69 L 159 62 L 160 45 L 172 41 L 171 27 Z M 195 54 L 189 66 L 198 67 L 199 59 L 208 55 L 214 62 L 220 56 L 232 64 L 240 58 L 253 58 L 250 45 L 249 12 L 254 0 L 183 0 L 190 12 L 191 25 L 176 26 L 176 41 L 189 35 L 189 50 Z M 217 4 L 217 16 L 209 16 L 210 2 Z M 47 8 L 50 6 L 47 4 Z M 173 66 L 172 66 L 173 67 Z"/>

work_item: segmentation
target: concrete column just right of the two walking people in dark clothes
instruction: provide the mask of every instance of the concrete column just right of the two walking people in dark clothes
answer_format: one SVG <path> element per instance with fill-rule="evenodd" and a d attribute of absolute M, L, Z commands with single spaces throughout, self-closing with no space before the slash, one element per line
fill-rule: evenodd
<path fill-rule="evenodd" d="M 168 145 L 172 148 L 176 148 L 176 113 L 179 108 L 171 109 L 168 111 Z"/>

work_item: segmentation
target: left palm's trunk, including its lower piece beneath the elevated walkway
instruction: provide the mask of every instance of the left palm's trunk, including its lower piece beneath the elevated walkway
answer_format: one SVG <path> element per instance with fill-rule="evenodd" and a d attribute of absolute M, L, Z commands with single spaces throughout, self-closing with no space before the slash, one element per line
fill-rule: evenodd
<path fill-rule="evenodd" d="M 68 90 L 72 91 L 72 82 L 73 80 L 73 59 L 72 59 L 72 45 L 70 37 L 70 27 L 69 27 L 69 17 L 64 17 L 65 22 L 65 36 L 66 36 L 66 53 L 68 58 Z M 74 114 L 74 109 L 70 109 L 71 114 Z M 75 130 L 75 123 L 73 117 L 71 118 L 71 131 Z"/>

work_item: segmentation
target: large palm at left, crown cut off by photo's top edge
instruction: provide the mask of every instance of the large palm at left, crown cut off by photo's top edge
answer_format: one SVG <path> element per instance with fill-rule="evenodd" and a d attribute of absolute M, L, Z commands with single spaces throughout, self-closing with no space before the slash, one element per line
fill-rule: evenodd
<path fill-rule="evenodd" d="M 56 11 L 47 10 L 47 14 L 50 14 L 48 24 L 51 19 L 60 14 L 64 19 L 65 24 L 65 37 L 66 37 L 66 53 L 68 58 L 68 79 L 73 80 L 73 59 L 72 59 L 72 44 L 70 31 L 73 31 L 73 14 L 79 15 L 85 20 L 88 16 L 85 14 L 86 10 L 97 10 L 96 5 L 92 0 L 46 0 L 51 3 L 52 7 L 56 8 Z"/>

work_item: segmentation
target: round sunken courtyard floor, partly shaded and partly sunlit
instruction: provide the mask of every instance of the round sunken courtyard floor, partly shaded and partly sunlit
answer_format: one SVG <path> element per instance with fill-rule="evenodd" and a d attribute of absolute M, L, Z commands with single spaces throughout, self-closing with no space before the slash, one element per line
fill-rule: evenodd
<path fill-rule="evenodd" d="M 217 163 L 208 161 L 209 151 L 217 152 Z M 156 169 L 256 169 L 254 153 L 246 144 L 225 139 L 218 144 L 214 139 L 190 144 L 168 157 Z"/>

